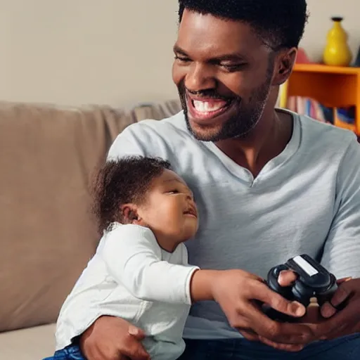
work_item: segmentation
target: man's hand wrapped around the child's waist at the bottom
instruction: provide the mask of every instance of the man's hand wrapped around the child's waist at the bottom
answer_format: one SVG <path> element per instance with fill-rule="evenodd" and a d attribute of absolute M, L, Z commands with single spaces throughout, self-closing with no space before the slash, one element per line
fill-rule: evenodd
<path fill-rule="evenodd" d="M 123 319 L 101 316 L 80 337 L 80 348 L 87 360 L 150 360 L 144 336 Z"/>

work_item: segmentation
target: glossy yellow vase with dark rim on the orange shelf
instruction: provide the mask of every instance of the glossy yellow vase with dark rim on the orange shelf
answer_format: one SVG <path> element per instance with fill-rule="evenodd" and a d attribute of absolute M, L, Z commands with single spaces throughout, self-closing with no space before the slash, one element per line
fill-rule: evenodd
<path fill-rule="evenodd" d="M 328 32 L 323 62 L 326 65 L 349 66 L 352 61 L 352 52 L 347 44 L 347 32 L 341 25 L 342 18 L 331 18 L 331 20 L 333 20 L 333 27 Z"/>

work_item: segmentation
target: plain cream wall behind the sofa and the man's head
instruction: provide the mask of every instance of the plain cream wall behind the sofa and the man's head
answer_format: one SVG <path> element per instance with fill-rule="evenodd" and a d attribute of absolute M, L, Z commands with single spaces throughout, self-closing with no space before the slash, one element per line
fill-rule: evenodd
<path fill-rule="evenodd" d="M 360 45 L 359 0 L 308 0 L 302 45 L 321 57 L 331 15 Z M 175 98 L 176 0 L 0 0 L 0 100 L 133 105 Z"/>

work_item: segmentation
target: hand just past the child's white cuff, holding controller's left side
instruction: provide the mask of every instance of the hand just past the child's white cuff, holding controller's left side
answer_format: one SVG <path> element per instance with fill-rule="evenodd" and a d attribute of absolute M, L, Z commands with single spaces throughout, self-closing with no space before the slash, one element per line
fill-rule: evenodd
<path fill-rule="evenodd" d="M 290 285 L 295 280 L 293 274 L 284 276 L 282 285 Z M 269 304 L 277 311 L 295 317 L 303 316 L 306 309 L 302 304 L 285 300 L 270 290 L 259 276 L 241 270 L 218 271 L 212 278 L 212 296 L 231 326 L 248 340 L 262 341 L 287 351 L 300 351 L 304 345 L 316 340 L 309 326 L 278 323 L 263 313 L 262 304 Z"/>

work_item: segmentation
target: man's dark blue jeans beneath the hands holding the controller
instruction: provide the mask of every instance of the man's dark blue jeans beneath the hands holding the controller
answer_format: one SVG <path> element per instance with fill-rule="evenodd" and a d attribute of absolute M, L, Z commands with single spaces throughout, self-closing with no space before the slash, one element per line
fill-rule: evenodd
<path fill-rule="evenodd" d="M 314 342 L 300 352 L 284 352 L 245 339 L 186 340 L 179 360 L 359 360 L 360 333 Z"/>

